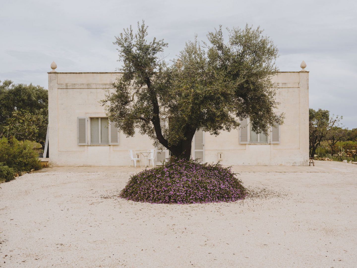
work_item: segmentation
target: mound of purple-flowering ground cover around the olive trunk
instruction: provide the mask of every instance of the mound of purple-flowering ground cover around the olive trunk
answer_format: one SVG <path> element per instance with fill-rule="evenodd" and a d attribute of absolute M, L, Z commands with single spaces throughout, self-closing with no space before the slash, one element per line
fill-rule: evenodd
<path fill-rule="evenodd" d="M 234 202 L 245 195 L 230 167 L 174 157 L 131 176 L 120 192 L 127 200 L 175 204 Z"/>

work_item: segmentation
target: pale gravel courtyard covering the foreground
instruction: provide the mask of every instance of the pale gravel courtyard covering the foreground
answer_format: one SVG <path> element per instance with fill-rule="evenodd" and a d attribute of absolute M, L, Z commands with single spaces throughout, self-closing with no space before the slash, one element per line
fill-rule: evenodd
<path fill-rule="evenodd" d="M 338 169 L 242 172 L 248 198 L 195 205 L 117 198 L 133 172 L 25 174 L 0 185 L 0 267 L 356 267 L 357 165 L 316 165 Z"/>

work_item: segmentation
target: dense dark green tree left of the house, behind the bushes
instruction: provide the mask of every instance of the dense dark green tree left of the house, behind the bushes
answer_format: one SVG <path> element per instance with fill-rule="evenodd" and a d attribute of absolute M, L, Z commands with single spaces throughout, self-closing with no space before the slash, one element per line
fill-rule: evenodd
<path fill-rule="evenodd" d="M 34 140 L 43 147 L 47 124 L 46 89 L 32 84 L 14 84 L 10 80 L 0 84 L 0 137 Z"/>

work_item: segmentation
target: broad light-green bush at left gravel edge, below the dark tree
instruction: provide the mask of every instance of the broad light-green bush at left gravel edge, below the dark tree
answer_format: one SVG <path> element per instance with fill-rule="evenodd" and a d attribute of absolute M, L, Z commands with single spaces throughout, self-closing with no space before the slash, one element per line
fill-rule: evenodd
<path fill-rule="evenodd" d="M 38 153 L 33 149 L 33 143 L 25 140 L 20 142 L 15 138 L 0 139 L 0 162 L 13 168 L 16 173 L 29 172 L 31 169 L 41 169 Z"/>

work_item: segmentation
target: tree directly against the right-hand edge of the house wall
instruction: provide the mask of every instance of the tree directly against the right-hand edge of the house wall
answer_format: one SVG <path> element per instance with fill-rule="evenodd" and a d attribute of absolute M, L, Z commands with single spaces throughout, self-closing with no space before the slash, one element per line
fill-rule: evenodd
<path fill-rule="evenodd" d="M 309 136 L 310 136 L 310 157 L 314 157 L 316 148 L 323 139 L 333 133 L 333 127 L 338 126 L 342 116 L 332 115 L 330 111 L 309 109 Z"/>

